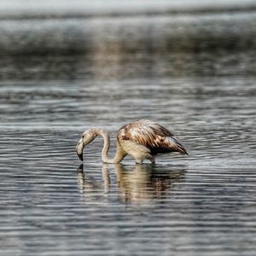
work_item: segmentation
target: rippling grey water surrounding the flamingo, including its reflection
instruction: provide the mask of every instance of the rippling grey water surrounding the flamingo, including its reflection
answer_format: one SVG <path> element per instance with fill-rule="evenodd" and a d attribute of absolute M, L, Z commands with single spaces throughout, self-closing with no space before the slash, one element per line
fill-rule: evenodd
<path fill-rule="evenodd" d="M 254 255 L 255 21 L 1 20 L 1 255 Z M 80 165 L 142 118 L 189 156 Z"/>

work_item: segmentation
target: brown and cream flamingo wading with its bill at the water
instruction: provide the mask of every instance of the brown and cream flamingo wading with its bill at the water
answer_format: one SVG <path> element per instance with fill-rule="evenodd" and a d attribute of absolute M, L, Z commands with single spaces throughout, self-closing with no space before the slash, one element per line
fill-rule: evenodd
<path fill-rule="evenodd" d="M 108 158 L 110 147 L 108 131 L 96 128 L 84 131 L 76 147 L 80 160 L 83 161 L 84 146 L 91 143 L 97 136 L 103 137 L 102 161 L 104 163 L 117 164 L 127 154 L 130 154 L 137 164 L 142 164 L 143 160 L 146 159 L 155 163 L 157 154 L 166 154 L 173 151 L 188 154 L 171 131 L 153 121 L 141 119 L 123 125 L 119 129 L 116 137 L 116 153 L 112 159 Z"/>

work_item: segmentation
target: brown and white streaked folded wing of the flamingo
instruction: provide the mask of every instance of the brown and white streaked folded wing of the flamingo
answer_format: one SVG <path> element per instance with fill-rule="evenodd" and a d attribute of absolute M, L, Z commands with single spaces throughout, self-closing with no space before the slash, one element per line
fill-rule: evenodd
<path fill-rule="evenodd" d="M 119 130 L 119 137 L 149 148 L 151 154 L 172 151 L 187 154 L 186 149 L 171 131 L 147 119 L 124 125 Z"/>

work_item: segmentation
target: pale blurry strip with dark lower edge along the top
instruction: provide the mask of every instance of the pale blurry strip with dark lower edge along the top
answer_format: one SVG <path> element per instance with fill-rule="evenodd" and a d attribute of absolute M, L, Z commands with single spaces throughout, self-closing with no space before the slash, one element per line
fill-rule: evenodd
<path fill-rule="evenodd" d="M 0 2 L 0 20 L 66 19 L 137 15 L 252 12 L 255 0 L 9 0 Z"/>

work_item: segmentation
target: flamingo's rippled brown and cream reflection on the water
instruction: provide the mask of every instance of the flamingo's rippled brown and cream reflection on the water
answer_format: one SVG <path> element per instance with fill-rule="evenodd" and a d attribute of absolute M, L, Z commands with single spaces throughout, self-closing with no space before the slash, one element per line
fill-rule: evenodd
<path fill-rule="evenodd" d="M 121 200 L 132 203 L 145 203 L 163 197 L 166 192 L 172 191 L 177 183 L 183 181 L 186 172 L 182 166 L 103 164 L 102 183 L 96 183 L 92 178 L 86 177 L 84 166 L 81 165 L 78 169 L 78 182 L 86 197 L 96 195 L 96 191 L 102 191 L 102 186 L 103 194 L 108 195 L 110 187 L 113 186 L 110 184 L 108 169 L 113 166 L 116 174 L 113 180 L 116 180 Z"/>

